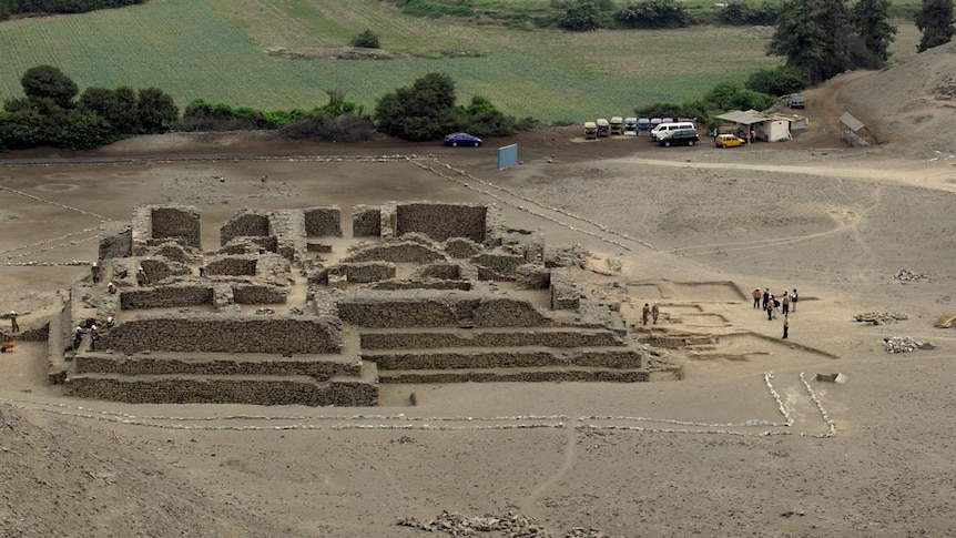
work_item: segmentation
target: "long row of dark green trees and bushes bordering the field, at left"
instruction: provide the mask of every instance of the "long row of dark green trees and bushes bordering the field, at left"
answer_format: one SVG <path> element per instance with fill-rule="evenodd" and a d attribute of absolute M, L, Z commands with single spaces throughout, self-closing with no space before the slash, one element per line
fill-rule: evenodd
<path fill-rule="evenodd" d="M 535 124 L 504 114 L 475 95 L 457 104 L 455 82 L 429 73 L 410 87 L 386 93 L 373 113 L 327 90 L 328 102 L 311 110 L 261 111 L 194 100 L 180 115 L 172 97 L 157 88 L 136 90 L 90 87 L 52 65 L 23 73 L 26 97 L 9 99 L 0 112 L 0 150 L 41 145 L 85 150 L 140 134 L 169 131 L 275 130 L 291 140 L 362 142 L 384 132 L 409 141 L 437 140 L 452 131 L 477 136 L 509 136 Z"/>

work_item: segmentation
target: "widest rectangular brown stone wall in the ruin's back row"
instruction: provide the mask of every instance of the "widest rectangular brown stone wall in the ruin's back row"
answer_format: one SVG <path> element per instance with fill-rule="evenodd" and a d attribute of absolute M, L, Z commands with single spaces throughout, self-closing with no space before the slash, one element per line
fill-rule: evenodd
<path fill-rule="evenodd" d="M 488 209 L 479 204 L 416 202 L 396 205 L 395 235 L 409 232 L 428 235 L 435 241 L 467 237 L 485 243 Z"/>

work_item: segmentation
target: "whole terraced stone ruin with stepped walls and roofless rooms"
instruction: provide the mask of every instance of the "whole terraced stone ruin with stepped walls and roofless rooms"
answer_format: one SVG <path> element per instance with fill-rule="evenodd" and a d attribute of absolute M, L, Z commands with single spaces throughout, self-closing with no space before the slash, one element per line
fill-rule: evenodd
<path fill-rule="evenodd" d="M 311 406 L 376 405 L 382 383 L 648 380 L 620 309 L 494 205 L 356 206 L 350 237 L 337 206 L 243 209 L 209 252 L 200 224 L 150 205 L 104 229 L 99 282 L 61 294 L 50 324 L 52 380 L 130 403 Z"/>

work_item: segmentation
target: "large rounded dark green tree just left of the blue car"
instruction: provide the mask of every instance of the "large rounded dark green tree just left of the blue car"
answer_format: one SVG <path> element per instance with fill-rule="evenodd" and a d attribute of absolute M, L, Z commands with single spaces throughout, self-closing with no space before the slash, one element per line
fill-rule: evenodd
<path fill-rule="evenodd" d="M 410 87 L 386 93 L 375 108 L 375 121 L 385 133 L 414 142 L 436 140 L 459 123 L 455 82 L 443 73 L 428 73 Z"/>

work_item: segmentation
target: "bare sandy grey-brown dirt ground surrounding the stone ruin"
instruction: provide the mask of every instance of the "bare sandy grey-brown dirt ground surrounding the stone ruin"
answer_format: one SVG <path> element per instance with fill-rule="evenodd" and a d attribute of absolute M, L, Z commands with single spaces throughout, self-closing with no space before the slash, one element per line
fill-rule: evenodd
<path fill-rule="evenodd" d="M 956 313 L 956 161 L 843 144 L 841 91 L 878 77 L 807 92 L 794 142 L 729 150 L 566 128 L 480 149 L 180 134 L 3 155 L 0 312 L 26 312 L 24 329 L 136 204 L 197 206 L 213 248 L 243 206 L 436 200 L 587 248 L 582 276 L 635 338 L 719 342 L 667 352 L 679 380 L 383 386 L 377 408 L 79 400 L 45 383 L 43 345 L 18 343 L 0 358 L 2 536 L 414 537 L 399 519 L 443 510 L 548 532 L 521 536 L 952 536 L 956 332 L 934 321 Z M 498 171 L 509 142 L 522 163 Z M 355 159 L 380 155 L 409 159 Z M 800 291 L 786 341 L 754 287 Z M 649 302 L 672 323 L 640 327 Z M 855 321 L 867 312 L 905 319 Z M 896 336 L 935 348 L 889 354 Z"/>

